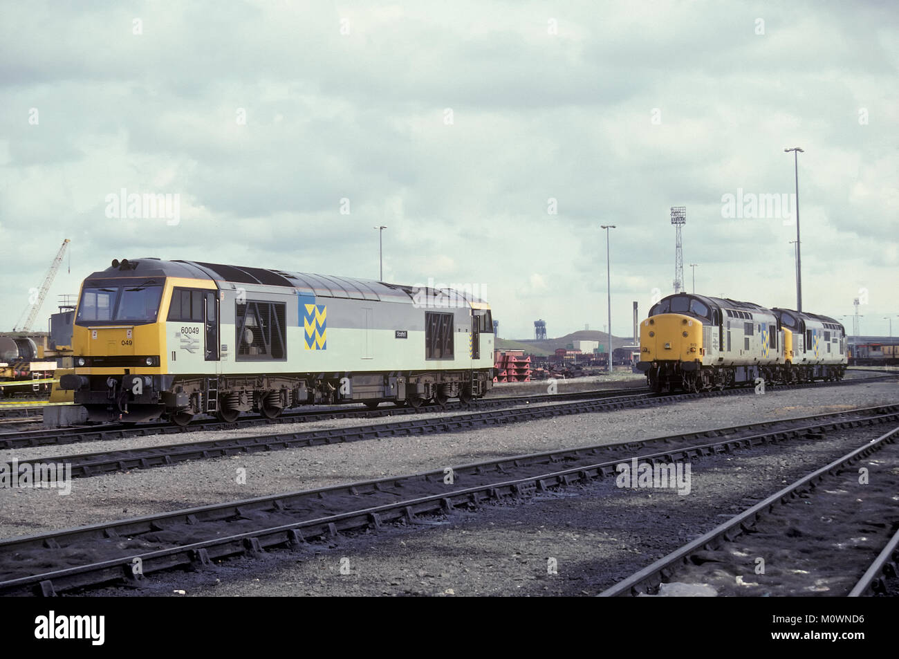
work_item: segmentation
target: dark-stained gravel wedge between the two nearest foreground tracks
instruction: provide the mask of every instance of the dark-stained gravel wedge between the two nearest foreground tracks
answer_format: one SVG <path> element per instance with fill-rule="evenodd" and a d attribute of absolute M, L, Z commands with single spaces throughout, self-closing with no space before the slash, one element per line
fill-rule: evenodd
<path fill-rule="evenodd" d="M 134 591 L 96 594 L 595 595 L 885 429 L 694 461 L 692 488 L 683 496 L 619 489 L 608 478 L 485 504 L 476 512 L 457 509 L 413 526 L 226 561 L 198 573 L 158 575 Z M 772 575 L 793 565 L 788 557 L 761 555 L 769 558 Z M 766 595 L 764 578 L 747 562 L 737 574 L 741 579 L 731 575 L 727 589 L 714 587 L 728 595 Z M 803 594 L 830 594 L 820 583 L 803 583 L 803 577 L 794 577 L 801 588 L 810 586 Z"/>

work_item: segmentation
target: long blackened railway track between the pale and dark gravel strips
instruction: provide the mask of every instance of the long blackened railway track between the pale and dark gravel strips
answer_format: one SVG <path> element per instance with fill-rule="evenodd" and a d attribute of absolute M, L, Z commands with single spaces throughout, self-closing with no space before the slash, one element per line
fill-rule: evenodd
<path fill-rule="evenodd" d="M 828 430 L 897 422 L 899 405 L 859 408 L 494 459 L 5 539 L 0 540 L 0 594 L 52 595 L 107 583 L 134 583 L 173 568 L 201 569 L 226 557 L 298 547 L 307 539 L 333 538 L 345 531 L 412 522 L 458 506 L 614 477 L 616 466 L 628 459 L 653 464 L 701 459 L 814 438 Z"/>

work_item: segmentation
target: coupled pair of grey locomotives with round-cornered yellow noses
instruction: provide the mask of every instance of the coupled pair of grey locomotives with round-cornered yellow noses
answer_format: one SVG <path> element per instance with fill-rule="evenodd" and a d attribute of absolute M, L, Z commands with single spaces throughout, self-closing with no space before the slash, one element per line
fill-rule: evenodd
<path fill-rule="evenodd" d="M 841 379 L 846 333 L 833 318 L 680 293 L 640 324 L 640 361 L 654 391 L 701 391 Z"/>

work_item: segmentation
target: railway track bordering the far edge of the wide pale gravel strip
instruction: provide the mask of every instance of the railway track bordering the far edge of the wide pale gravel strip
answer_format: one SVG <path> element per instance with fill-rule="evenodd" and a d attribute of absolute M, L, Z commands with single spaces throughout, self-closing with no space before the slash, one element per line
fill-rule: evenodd
<path fill-rule="evenodd" d="M 850 383 L 851 381 L 845 382 L 845 384 Z M 823 386 L 825 386 L 823 383 L 815 383 L 791 385 L 790 387 Z M 515 407 L 476 412 L 473 414 L 447 415 L 432 419 L 396 423 L 376 423 L 364 426 L 329 428 L 317 431 L 280 432 L 244 437 L 228 437 L 220 440 L 191 441 L 147 448 L 44 456 L 35 459 L 21 459 L 18 460 L 18 464 L 20 468 L 24 466 L 39 468 L 42 464 L 67 465 L 71 467 L 72 477 L 80 478 L 135 469 L 164 467 L 187 460 L 214 459 L 271 450 L 297 449 L 307 446 L 349 441 L 365 441 L 378 439 L 380 437 L 423 435 L 438 432 L 462 432 L 476 427 L 536 421 L 539 419 L 569 414 L 610 412 L 636 407 L 668 405 L 683 400 L 717 396 L 745 396 L 752 395 L 752 393 L 753 389 L 747 388 L 700 392 L 698 394 L 674 394 L 669 396 L 654 394 L 602 396 L 596 399 L 575 401 L 573 403 Z"/>

